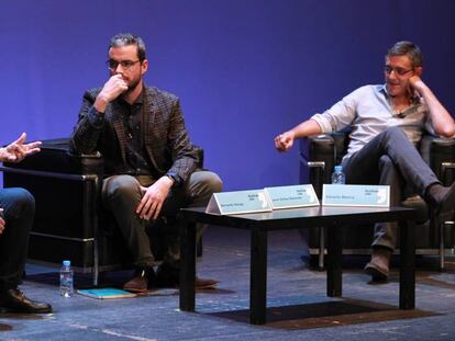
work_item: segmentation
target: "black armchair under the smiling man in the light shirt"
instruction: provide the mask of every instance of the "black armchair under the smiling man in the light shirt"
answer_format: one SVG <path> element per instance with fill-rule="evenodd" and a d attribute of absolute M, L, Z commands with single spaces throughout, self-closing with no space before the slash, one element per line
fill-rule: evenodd
<path fill-rule="evenodd" d="M 319 197 L 322 194 L 322 184 L 331 182 L 331 174 L 335 164 L 346 154 L 348 132 L 322 134 L 303 139 L 300 143 L 300 182 L 311 183 Z M 448 185 L 455 180 L 455 139 L 442 139 L 424 135 L 417 146 L 422 158 L 443 182 Z M 440 269 L 444 269 L 445 252 L 454 252 L 455 228 L 454 217 L 444 217 L 442 221 L 429 220 L 426 204 L 419 195 L 410 194 L 402 203 L 404 206 L 417 208 L 417 253 L 439 254 Z M 368 254 L 373 241 L 373 226 L 366 229 L 345 229 L 345 254 Z M 314 261 L 318 257 L 318 266 L 324 266 L 325 231 L 323 228 L 310 231 L 310 255 Z M 399 246 L 399 241 L 397 243 Z M 448 249 L 448 250 L 447 250 Z M 399 250 L 397 250 L 399 252 Z"/>

